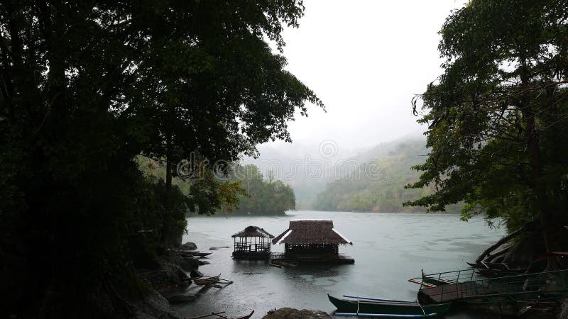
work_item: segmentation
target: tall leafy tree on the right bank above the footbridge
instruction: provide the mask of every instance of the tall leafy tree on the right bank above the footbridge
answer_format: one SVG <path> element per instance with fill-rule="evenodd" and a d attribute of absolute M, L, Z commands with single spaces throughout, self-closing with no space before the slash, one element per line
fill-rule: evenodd
<path fill-rule="evenodd" d="M 501 217 L 509 230 L 537 220 L 552 249 L 568 208 L 567 32 L 567 1 L 473 0 L 450 14 L 444 74 L 417 96 L 432 150 L 409 185 L 437 191 L 408 205 L 464 200 L 464 218 Z"/>

